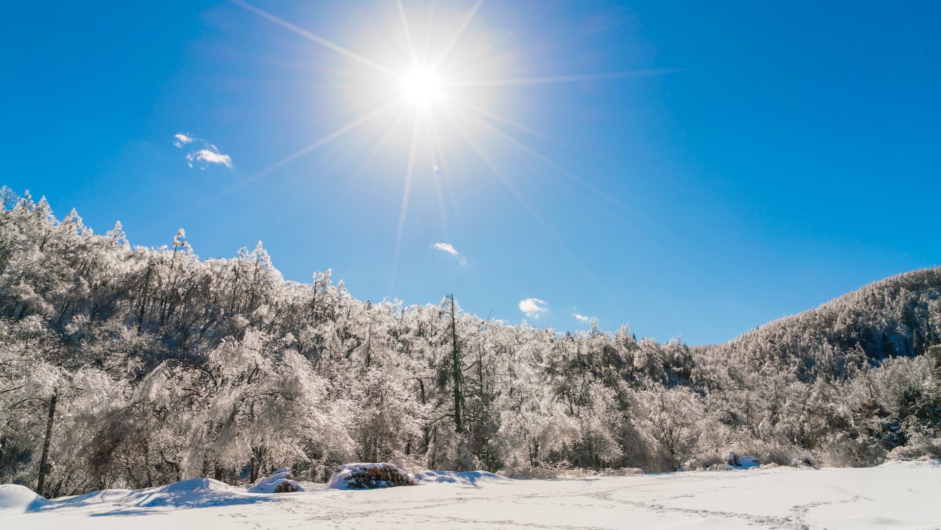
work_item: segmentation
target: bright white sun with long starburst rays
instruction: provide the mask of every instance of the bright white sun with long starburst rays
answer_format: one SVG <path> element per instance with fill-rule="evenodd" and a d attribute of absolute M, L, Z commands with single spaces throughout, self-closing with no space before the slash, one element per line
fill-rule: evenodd
<path fill-rule="evenodd" d="M 386 21 L 393 34 L 391 37 L 361 40 L 361 46 L 374 58 L 360 55 L 359 52 L 327 40 L 298 25 L 280 19 L 262 8 L 248 3 L 248 0 L 230 0 L 231 3 L 257 14 L 273 24 L 295 32 L 349 59 L 351 66 L 357 63 L 355 83 L 351 85 L 351 94 L 364 93 L 368 89 L 369 97 L 377 104 L 372 110 L 354 120 L 316 139 L 308 146 L 289 154 L 264 169 L 248 175 L 229 189 L 246 185 L 248 182 L 279 169 L 307 153 L 319 149 L 339 137 L 354 130 L 367 129 L 366 137 L 378 133 L 378 141 L 372 153 L 366 156 L 368 161 L 380 148 L 392 142 L 398 147 L 407 146 L 407 164 L 405 167 L 404 189 L 399 212 L 398 229 L 391 262 L 391 278 L 394 282 L 399 251 L 402 247 L 408 201 L 415 179 L 425 179 L 423 184 L 434 186 L 438 196 L 441 229 L 447 232 L 447 216 L 442 188 L 456 201 L 451 185 L 451 173 L 448 170 L 445 147 L 452 151 L 461 147 L 476 155 L 476 158 L 506 187 L 507 191 L 520 203 L 534 219 L 546 228 L 548 225 L 528 204 L 526 197 L 518 192 L 499 165 L 494 162 L 490 147 L 508 146 L 525 155 L 526 160 L 539 164 L 540 172 L 554 179 L 564 179 L 578 189 L 586 189 L 598 197 L 609 200 L 608 195 L 582 180 L 575 173 L 562 168 L 549 156 L 539 153 L 518 139 L 515 129 L 526 135 L 543 137 L 539 132 L 519 124 L 492 110 L 493 104 L 505 93 L 502 88 L 526 85 L 548 85 L 555 83 L 573 83 L 597 81 L 638 75 L 654 75 L 673 72 L 673 70 L 599 72 L 569 75 L 506 76 L 523 65 L 517 65 L 512 57 L 515 49 L 504 49 L 502 39 L 492 39 L 492 33 L 468 31 L 477 11 L 485 0 L 475 0 L 472 7 L 464 12 L 449 13 L 449 9 L 436 11 L 436 2 L 427 3 L 426 13 L 412 13 L 411 22 L 404 5 L 404 0 L 396 0 L 394 5 L 398 16 L 391 15 Z M 391 2 L 382 2 L 391 6 Z M 442 11 L 443 14 L 442 14 Z M 395 24 L 396 19 L 401 24 Z M 422 22 L 424 21 L 424 22 Z M 383 24 L 379 24 L 380 26 Z M 401 35 L 401 37 L 397 37 Z M 384 58 L 385 60 L 375 60 Z M 359 67 L 368 77 L 360 77 Z M 377 89 L 377 90 L 376 90 Z M 355 96 L 354 96 L 355 97 Z M 359 106 L 359 103 L 358 103 Z M 514 105 L 507 105 L 512 108 Z M 384 124 L 380 125 L 380 121 Z M 367 123 L 372 123 L 369 127 Z M 408 129 L 410 125 L 410 130 Z M 453 137 L 455 145 L 446 141 Z M 454 159 L 453 159 L 454 160 Z M 545 171 L 548 169 L 548 171 Z M 221 192 L 220 192 L 221 193 Z M 556 243 L 571 257 L 561 239 L 551 234 Z M 579 264 L 579 267 L 584 270 Z M 390 292 L 392 291 L 390 286 Z"/>

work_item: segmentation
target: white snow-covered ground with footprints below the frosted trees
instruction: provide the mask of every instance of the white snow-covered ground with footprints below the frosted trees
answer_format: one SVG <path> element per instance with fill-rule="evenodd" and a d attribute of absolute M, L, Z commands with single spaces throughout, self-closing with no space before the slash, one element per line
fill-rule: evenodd
<path fill-rule="evenodd" d="M 49 502 L 0 486 L 0 528 L 933 528 L 941 465 L 510 480 L 428 474 L 421 485 L 248 493 L 208 479 Z"/>

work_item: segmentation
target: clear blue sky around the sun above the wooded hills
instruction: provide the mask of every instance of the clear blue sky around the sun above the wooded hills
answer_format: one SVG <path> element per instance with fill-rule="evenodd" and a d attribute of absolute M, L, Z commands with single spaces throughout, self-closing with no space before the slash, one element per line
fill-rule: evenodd
<path fill-rule="evenodd" d="M 937 3 L 406 1 L 476 110 L 347 130 L 399 82 L 311 34 L 408 70 L 394 2 L 13 4 L 0 180 L 134 244 L 690 344 L 941 263 Z"/>

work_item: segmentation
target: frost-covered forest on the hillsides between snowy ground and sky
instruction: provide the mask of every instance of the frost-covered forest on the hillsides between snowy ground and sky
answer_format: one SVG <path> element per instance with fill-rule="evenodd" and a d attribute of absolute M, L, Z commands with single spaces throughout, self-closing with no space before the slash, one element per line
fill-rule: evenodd
<path fill-rule="evenodd" d="M 329 270 L 285 281 L 261 244 L 199 260 L 182 230 L 132 247 L 120 223 L 0 201 L 0 482 L 41 475 L 49 496 L 358 460 L 551 474 L 941 450 L 938 268 L 691 348 L 359 301 Z"/>

